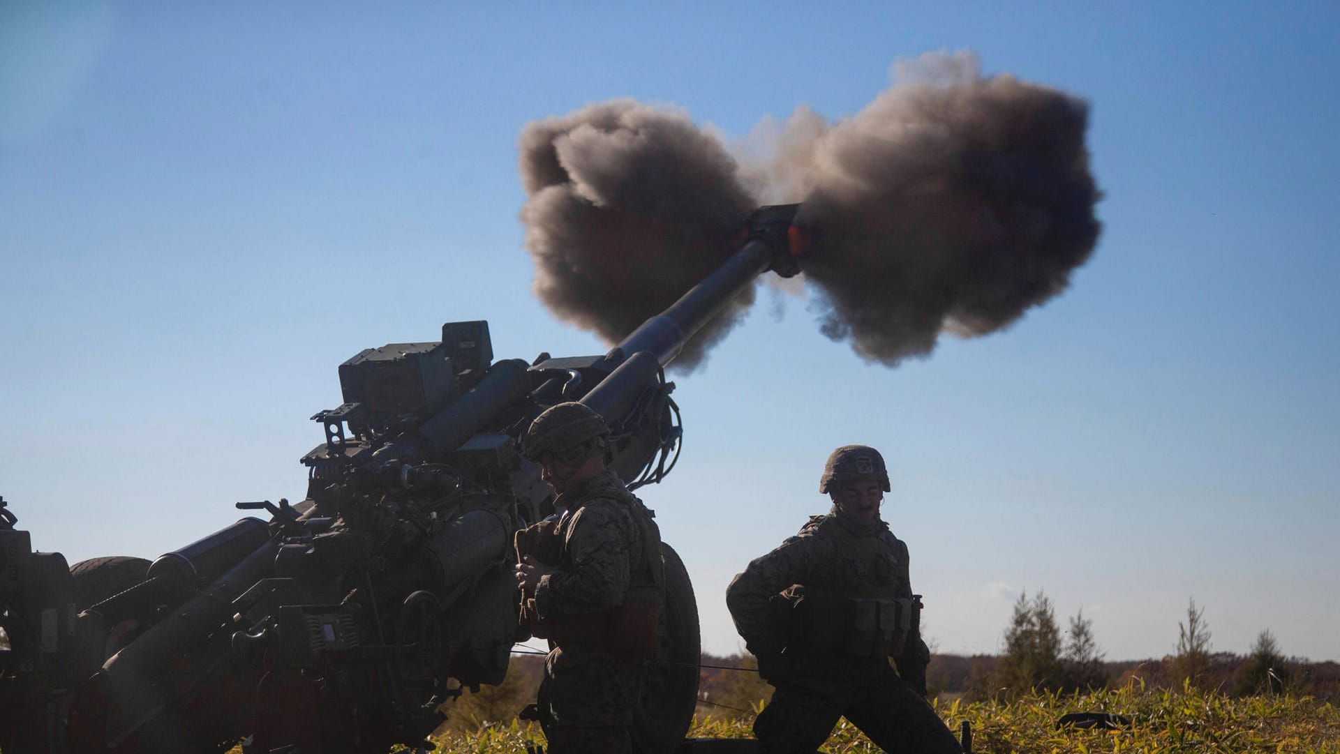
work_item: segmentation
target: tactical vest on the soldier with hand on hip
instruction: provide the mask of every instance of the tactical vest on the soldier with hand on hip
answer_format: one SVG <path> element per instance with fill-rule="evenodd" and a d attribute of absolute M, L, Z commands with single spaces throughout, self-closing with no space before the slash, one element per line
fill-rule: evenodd
<path fill-rule="evenodd" d="M 911 593 L 906 548 L 887 529 L 860 536 L 832 516 L 816 516 L 801 530 L 824 544 L 828 557 L 807 584 L 772 600 L 785 627 L 787 652 L 809 656 L 902 656 L 921 620 Z"/>

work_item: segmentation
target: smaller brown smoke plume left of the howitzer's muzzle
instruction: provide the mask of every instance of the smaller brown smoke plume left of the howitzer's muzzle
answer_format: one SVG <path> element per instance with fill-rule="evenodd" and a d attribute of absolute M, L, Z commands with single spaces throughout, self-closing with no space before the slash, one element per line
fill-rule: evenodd
<path fill-rule="evenodd" d="M 520 149 L 535 292 L 610 344 L 725 261 L 756 204 L 720 141 L 628 99 L 529 123 Z M 753 299 L 741 292 L 675 366 L 698 366 Z"/>

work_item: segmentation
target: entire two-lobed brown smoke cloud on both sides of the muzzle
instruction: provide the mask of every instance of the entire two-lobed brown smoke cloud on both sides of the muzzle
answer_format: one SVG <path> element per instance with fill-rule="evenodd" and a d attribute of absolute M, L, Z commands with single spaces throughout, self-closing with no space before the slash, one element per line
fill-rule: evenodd
<path fill-rule="evenodd" d="M 941 332 L 1008 327 L 1088 260 L 1087 121 L 1083 100 L 931 54 L 896 64 L 848 119 L 805 106 L 764 119 L 736 157 L 682 112 L 631 100 L 532 123 L 535 289 L 614 343 L 712 272 L 753 206 L 799 201 L 821 331 L 867 360 L 923 356 Z M 752 301 L 741 293 L 675 366 L 701 364 Z"/>

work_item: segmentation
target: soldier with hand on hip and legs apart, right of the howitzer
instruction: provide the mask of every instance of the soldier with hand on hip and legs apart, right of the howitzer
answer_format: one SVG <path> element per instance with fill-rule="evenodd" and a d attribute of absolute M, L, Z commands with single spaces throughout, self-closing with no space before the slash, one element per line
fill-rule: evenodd
<path fill-rule="evenodd" d="M 879 518 L 888 489 L 879 451 L 839 447 L 819 482 L 833 502 L 828 516 L 812 517 L 726 589 L 758 675 L 776 687 L 754 721 L 761 751 L 812 753 L 839 717 L 884 751 L 962 751 L 925 699 L 930 651 L 917 629 L 907 545 Z"/>

